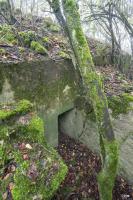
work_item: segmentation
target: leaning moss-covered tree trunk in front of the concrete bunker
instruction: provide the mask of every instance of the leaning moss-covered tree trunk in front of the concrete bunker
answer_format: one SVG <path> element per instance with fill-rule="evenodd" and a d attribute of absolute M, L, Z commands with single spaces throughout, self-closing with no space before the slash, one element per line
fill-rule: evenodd
<path fill-rule="evenodd" d="M 57 15 L 61 12 L 59 0 L 52 0 L 52 7 Z M 96 73 L 87 40 L 82 31 L 80 15 L 75 0 L 62 0 L 65 15 L 65 30 L 75 55 L 77 65 L 86 91 L 87 100 L 92 103 L 99 129 L 102 155 L 102 170 L 98 175 L 100 198 L 112 200 L 112 189 L 118 164 L 118 147 L 108 112 L 108 103 L 102 81 Z M 64 21 L 64 20 L 63 20 Z"/>

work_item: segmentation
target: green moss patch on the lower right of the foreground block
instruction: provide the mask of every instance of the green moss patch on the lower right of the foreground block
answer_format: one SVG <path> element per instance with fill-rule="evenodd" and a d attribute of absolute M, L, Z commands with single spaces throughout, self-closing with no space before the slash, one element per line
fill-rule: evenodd
<path fill-rule="evenodd" d="M 15 186 L 12 191 L 13 199 L 31 200 L 34 196 L 40 196 L 41 199 L 45 200 L 51 199 L 67 173 L 66 165 L 60 160 L 58 173 L 56 172 L 55 175 L 53 174 L 52 177 L 50 176 L 50 173 L 52 173 L 51 166 L 53 165 L 54 159 L 53 153 L 53 157 L 49 157 L 48 160 L 46 160 L 47 165 L 45 169 L 43 169 L 41 162 L 36 161 L 36 165 L 34 163 L 34 166 L 36 166 L 37 173 L 40 177 L 36 180 L 31 180 L 31 178 L 27 176 L 31 166 L 30 161 L 21 161 L 21 164 L 19 168 L 17 168 L 17 171 L 14 175 Z M 49 180 L 47 179 L 47 175 Z"/>

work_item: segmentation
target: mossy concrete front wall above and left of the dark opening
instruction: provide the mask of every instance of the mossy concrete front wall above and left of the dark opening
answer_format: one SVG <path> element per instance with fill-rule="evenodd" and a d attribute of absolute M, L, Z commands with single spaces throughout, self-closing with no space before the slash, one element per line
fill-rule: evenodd
<path fill-rule="evenodd" d="M 0 102 L 28 99 L 45 121 L 45 137 L 58 144 L 58 115 L 74 107 L 76 76 L 70 60 L 0 64 Z"/>

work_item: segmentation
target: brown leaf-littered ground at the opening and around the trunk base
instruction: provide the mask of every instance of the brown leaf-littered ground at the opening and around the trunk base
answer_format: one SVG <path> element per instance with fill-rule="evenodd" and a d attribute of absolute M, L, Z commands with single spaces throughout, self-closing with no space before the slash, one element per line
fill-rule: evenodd
<path fill-rule="evenodd" d="M 68 166 L 68 175 L 53 200 L 99 200 L 97 173 L 100 157 L 83 144 L 61 134 L 58 151 Z M 117 177 L 113 200 L 133 200 L 133 187 Z"/>

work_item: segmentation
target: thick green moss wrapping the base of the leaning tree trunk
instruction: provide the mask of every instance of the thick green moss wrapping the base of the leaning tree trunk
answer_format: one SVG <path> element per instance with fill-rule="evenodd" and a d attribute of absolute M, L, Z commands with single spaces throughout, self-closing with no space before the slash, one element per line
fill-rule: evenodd
<path fill-rule="evenodd" d="M 98 175 L 98 186 L 101 200 L 112 200 L 112 189 L 114 187 L 115 177 L 118 165 L 118 144 L 117 142 L 105 141 L 104 148 L 106 157 L 102 171 Z"/>

